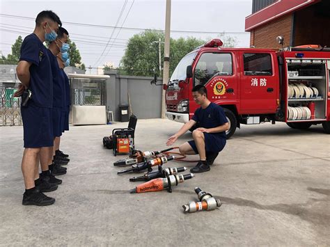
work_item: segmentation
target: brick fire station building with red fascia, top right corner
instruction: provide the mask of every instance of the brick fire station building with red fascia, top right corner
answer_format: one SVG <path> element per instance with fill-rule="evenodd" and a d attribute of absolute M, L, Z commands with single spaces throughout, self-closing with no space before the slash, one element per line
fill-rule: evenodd
<path fill-rule="evenodd" d="M 256 48 L 321 45 L 330 47 L 329 0 L 253 0 L 252 14 L 245 18 L 250 45 Z"/>

